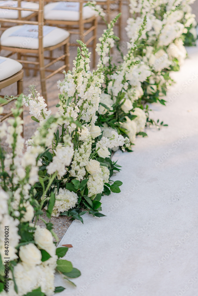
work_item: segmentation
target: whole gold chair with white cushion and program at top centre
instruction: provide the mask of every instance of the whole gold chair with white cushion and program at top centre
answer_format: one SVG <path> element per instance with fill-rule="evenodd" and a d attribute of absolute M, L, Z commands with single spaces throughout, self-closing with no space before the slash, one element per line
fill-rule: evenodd
<path fill-rule="evenodd" d="M 45 2 L 49 2 L 49 0 Z M 84 0 L 50 0 L 50 3 L 44 6 L 44 21 L 49 25 L 66 28 L 70 34 L 79 35 L 83 43 L 92 47 L 93 67 L 95 67 L 97 16 L 92 8 L 84 7 L 84 4 L 86 4 Z M 86 41 L 89 33 L 92 33 L 92 36 Z M 70 45 L 76 46 L 78 44 L 70 43 Z"/>

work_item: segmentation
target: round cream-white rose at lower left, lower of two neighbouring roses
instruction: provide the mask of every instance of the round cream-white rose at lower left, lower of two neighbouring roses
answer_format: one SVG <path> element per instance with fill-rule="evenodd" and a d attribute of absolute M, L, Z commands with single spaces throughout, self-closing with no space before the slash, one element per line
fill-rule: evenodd
<path fill-rule="evenodd" d="M 39 251 L 39 249 L 37 249 L 37 247 L 32 243 L 19 248 L 19 257 L 21 261 L 27 265 L 35 266 L 42 263 L 41 251 Z"/>

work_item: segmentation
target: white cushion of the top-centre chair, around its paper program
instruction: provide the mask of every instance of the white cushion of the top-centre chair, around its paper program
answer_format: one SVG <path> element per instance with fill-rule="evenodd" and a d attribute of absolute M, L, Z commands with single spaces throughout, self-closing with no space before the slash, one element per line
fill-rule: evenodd
<path fill-rule="evenodd" d="M 55 9 L 55 7 L 60 5 L 60 3 L 61 2 L 48 3 L 44 6 L 45 20 L 65 20 L 65 21 L 74 21 L 74 22 L 79 21 L 79 11 Z M 64 2 L 62 3 L 64 5 Z M 72 3 L 72 2 L 66 2 L 66 3 Z M 93 17 L 95 15 L 96 15 L 96 12 L 92 8 L 88 6 L 83 7 L 82 18 L 84 20 L 87 20 L 90 17 Z"/>

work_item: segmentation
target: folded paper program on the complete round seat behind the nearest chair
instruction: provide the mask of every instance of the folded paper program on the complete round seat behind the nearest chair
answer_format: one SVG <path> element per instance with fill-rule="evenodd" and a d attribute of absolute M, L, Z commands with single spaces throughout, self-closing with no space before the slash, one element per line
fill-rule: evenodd
<path fill-rule="evenodd" d="M 43 26 L 43 37 L 52 32 L 56 27 Z M 9 36 L 14 37 L 29 37 L 29 38 L 38 38 L 38 25 L 23 25 L 17 31 L 13 32 Z"/>

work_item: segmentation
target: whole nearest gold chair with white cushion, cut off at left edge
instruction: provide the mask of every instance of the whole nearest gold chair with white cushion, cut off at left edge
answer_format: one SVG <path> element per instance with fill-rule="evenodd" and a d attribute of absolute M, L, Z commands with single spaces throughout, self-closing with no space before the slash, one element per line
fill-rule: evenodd
<path fill-rule="evenodd" d="M 7 86 L 17 82 L 17 95 L 19 96 L 23 92 L 23 66 L 15 61 L 14 59 L 9 59 L 6 57 L 0 57 L 0 90 L 4 89 Z M 4 97 L 4 96 L 0 96 Z M 7 100 L 3 104 L 0 104 L 0 107 L 7 105 L 13 100 Z M 0 122 L 5 120 L 6 118 L 12 116 L 12 111 L 7 113 L 0 114 Z M 23 119 L 23 112 L 21 114 L 21 118 Z M 23 133 L 22 133 L 23 136 Z"/>

